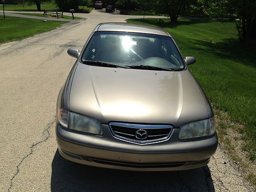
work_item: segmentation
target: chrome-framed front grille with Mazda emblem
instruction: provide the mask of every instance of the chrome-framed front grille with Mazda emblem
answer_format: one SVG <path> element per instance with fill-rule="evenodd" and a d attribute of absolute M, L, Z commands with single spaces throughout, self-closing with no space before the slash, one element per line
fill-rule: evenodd
<path fill-rule="evenodd" d="M 171 125 L 146 125 L 111 122 L 112 134 L 119 139 L 138 144 L 164 141 L 173 130 Z"/>

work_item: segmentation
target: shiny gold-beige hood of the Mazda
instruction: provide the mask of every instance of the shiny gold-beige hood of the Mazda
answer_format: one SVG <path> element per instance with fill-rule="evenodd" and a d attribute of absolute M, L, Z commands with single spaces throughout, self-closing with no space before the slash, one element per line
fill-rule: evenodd
<path fill-rule="evenodd" d="M 181 72 L 105 68 L 78 64 L 70 111 L 98 119 L 182 124 L 208 118 L 207 104 L 188 70 Z"/>

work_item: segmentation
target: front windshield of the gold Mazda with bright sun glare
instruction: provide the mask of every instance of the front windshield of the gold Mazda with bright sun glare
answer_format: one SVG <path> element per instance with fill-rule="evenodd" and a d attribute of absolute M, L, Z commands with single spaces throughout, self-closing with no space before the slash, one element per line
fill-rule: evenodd
<path fill-rule="evenodd" d="M 81 61 L 144 70 L 147 68 L 139 66 L 175 71 L 184 69 L 183 59 L 172 38 L 143 33 L 95 32 L 82 53 Z"/>

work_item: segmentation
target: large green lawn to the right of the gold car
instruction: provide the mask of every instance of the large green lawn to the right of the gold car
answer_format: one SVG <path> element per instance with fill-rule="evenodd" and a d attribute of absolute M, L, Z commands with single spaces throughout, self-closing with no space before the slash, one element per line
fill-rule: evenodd
<path fill-rule="evenodd" d="M 255 161 L 256 153 L 256 46 L 238 40 L 233 22 L 218 20 L 127 19 L 130 23 L 159 26 L 177 41 L 184 56 L 195 56 L 189 70 L 203 87 L 211 104 L 243 124 L 244 149 Z"/>

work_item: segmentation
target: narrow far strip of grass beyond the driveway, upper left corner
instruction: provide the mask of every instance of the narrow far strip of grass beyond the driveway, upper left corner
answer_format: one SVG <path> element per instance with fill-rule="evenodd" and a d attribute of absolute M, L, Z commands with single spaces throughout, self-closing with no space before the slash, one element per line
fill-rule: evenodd
<path fill-rule="evenodd" d="M 2 6 L 1 6 L 2 7 Z M 2 10 L 3 8 L 1 8 Z M 53 3 L 41 3 L 41 10 L 46 9 L 47 11 L 58 10 L 58 7 Z M 6 11 L 37 11 L 36 5 L 28 5 L 25 3 L 24 7 L 22 4 L 8 5 L 5 4 Z"/>

